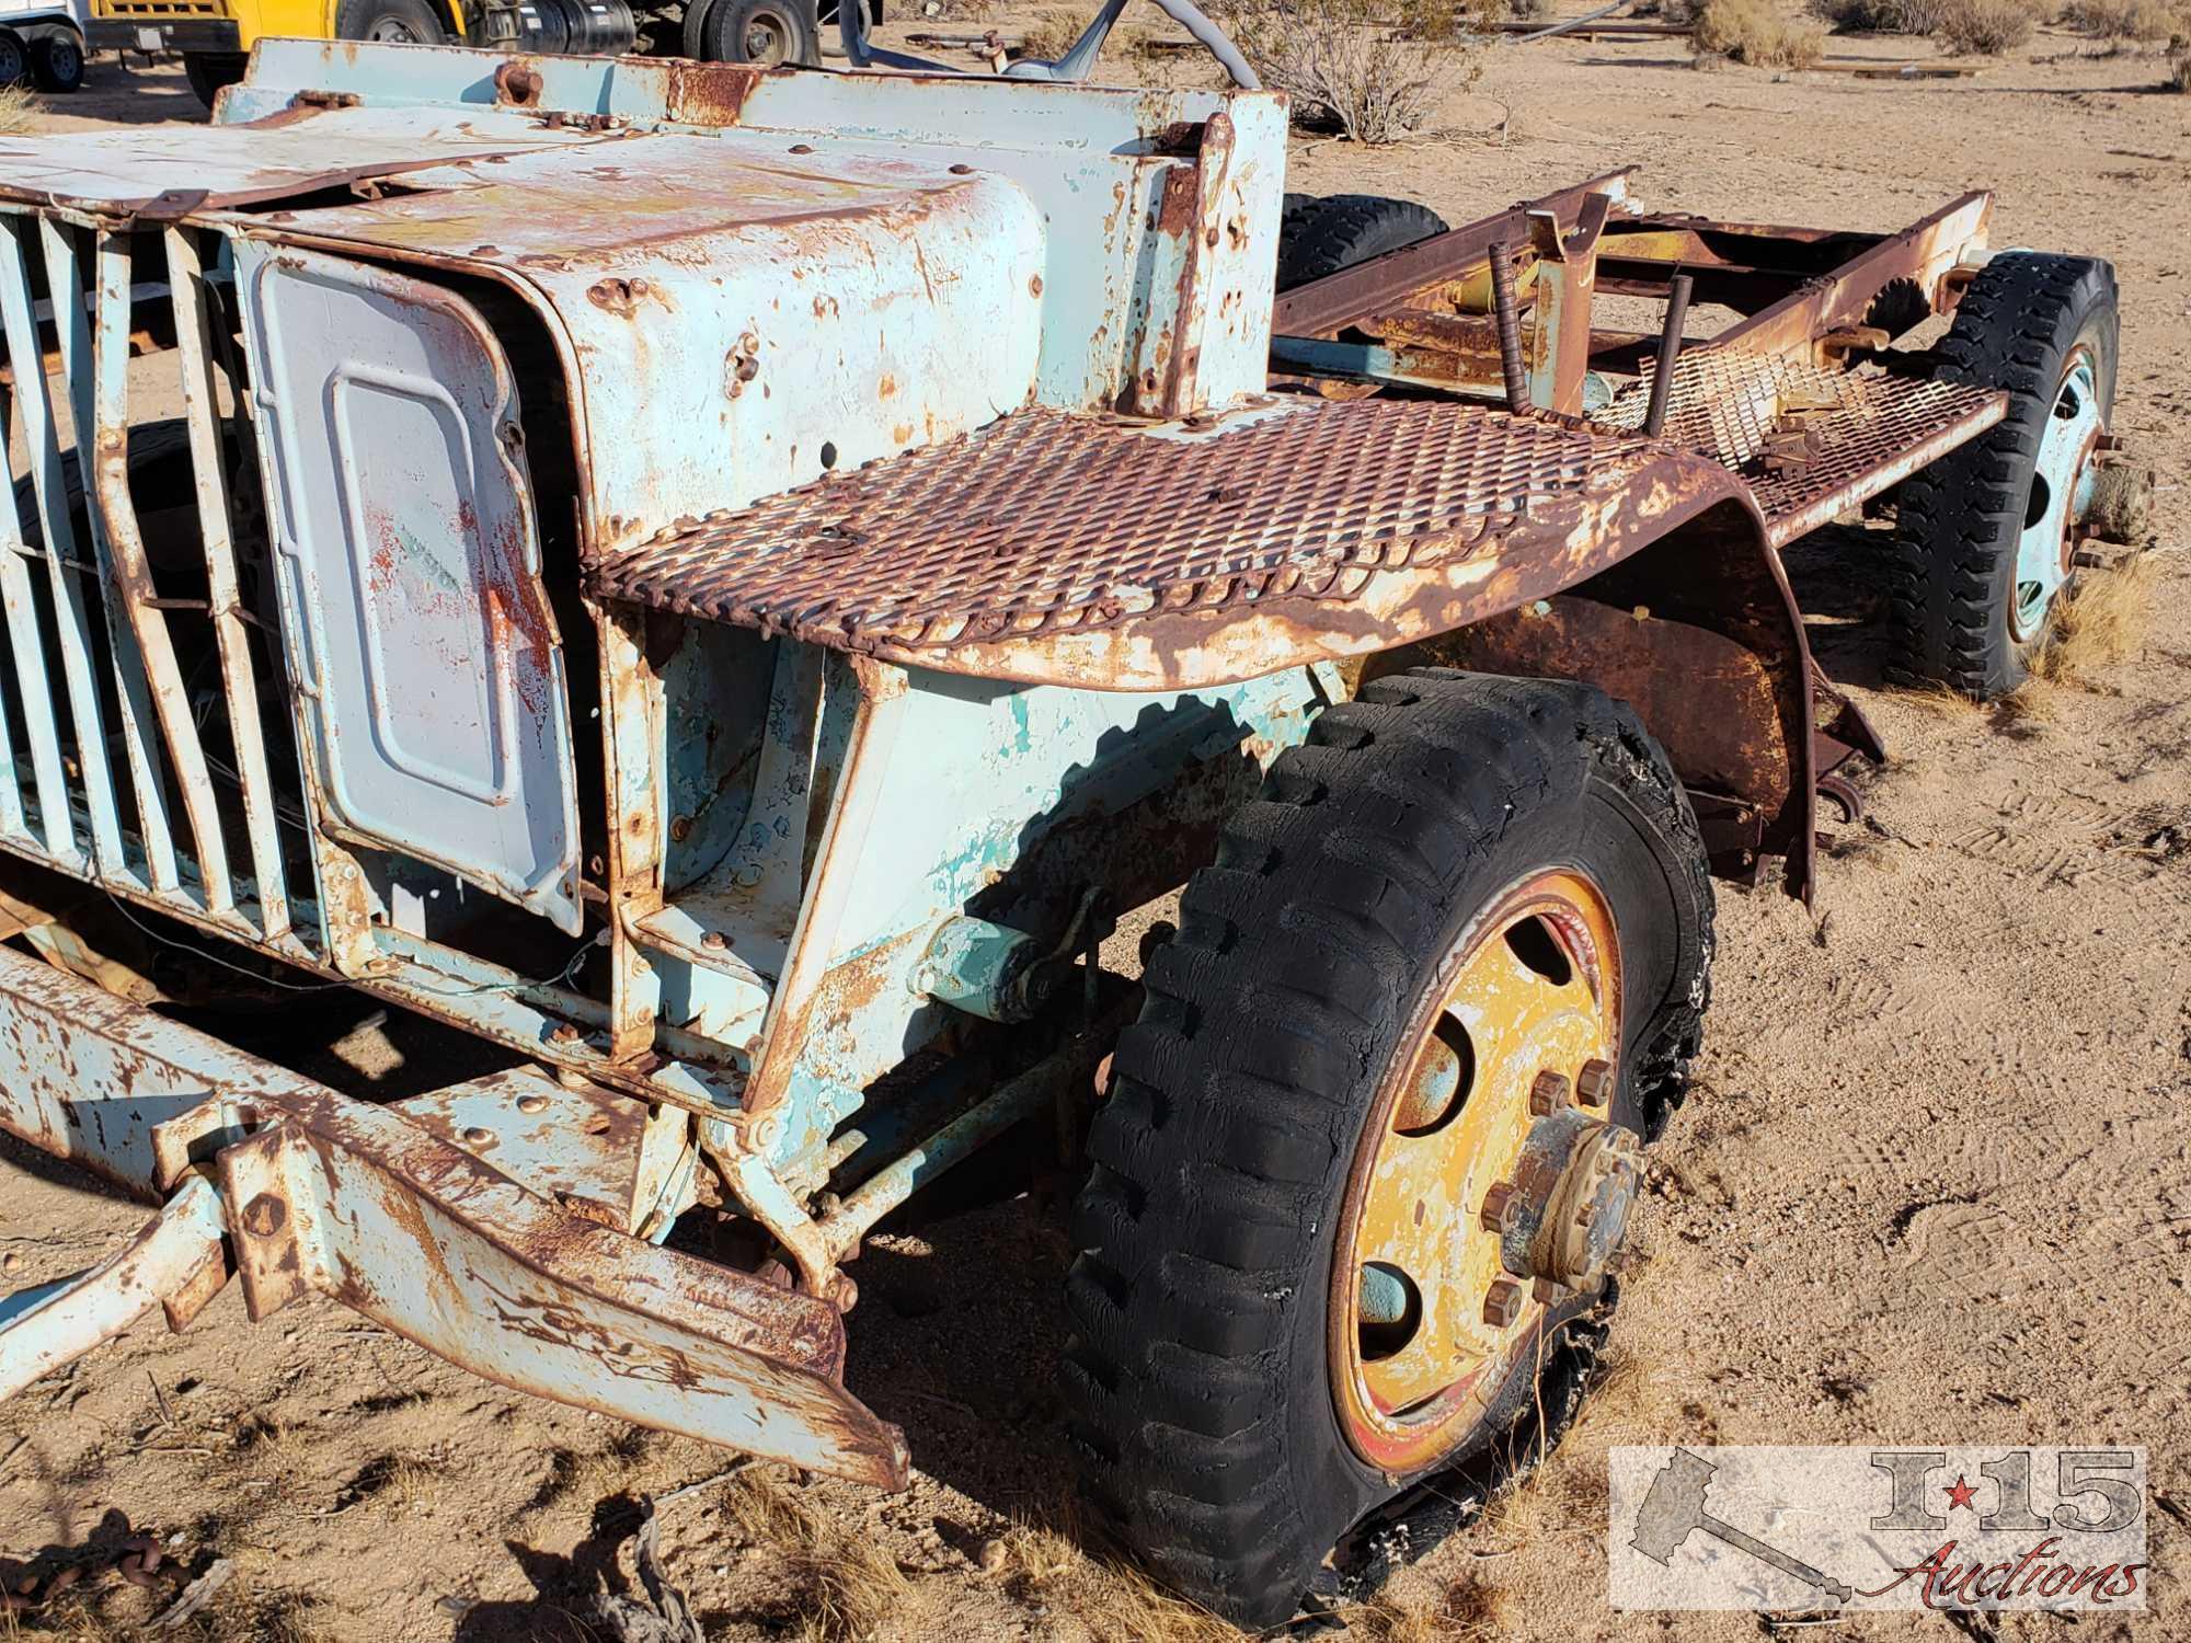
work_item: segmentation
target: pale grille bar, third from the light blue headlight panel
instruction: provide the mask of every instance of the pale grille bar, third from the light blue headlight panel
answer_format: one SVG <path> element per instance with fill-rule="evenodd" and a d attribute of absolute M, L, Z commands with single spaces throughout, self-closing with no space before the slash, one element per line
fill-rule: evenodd
<path fill-rule="evenodd" d="M 37 232 L 46 248 L 46 291 L 53 298 L 53 335 L 61 344 L 61 379 L 68 383 L 68 421 L 77 432 L 77 482 L 83 489 L 83 526 L 92 537 L 96 565 L 94 587 L 107 616 L 107 648 L 114 666 L 114 699 L 123 721 L 123 751 L 129 758 L 129 786 L 138 804 L 138 839 L 145 843 L 145 865 L 151 887 L 164 896 L 175 894 L 175 835 L 167 824 L 167 786 L 145 727 L 153 721 L 151 692 L 145 688 L 145 657 L 138 655 L 136 631 L 123 616 L 116 589 L 121 578 L 114 572 L 114 550 L 107 543 L 105 521 L 92 504 L 92 482 L 96 453 L 92 451 L 92 429 L 99 425 L 99 410 L 92 394 L 92 326 L 83 318 L 83 267 L 77 261 L 77 245 L 59 221 L 37 219 Z M 55 508 L 46 510 L 48 515 Z M 74 556 L 74 528 L 66 519 L 70 556 Z"/>

